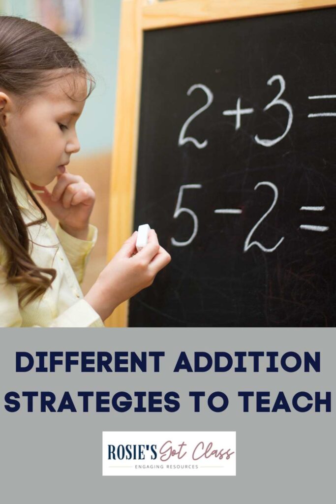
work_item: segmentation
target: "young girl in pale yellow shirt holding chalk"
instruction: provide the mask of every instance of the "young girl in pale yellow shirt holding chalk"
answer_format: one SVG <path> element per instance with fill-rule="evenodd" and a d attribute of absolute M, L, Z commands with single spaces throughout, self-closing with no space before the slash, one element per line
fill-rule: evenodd
<path fill-rule="evenodd" d="M 79 283 L 97 239 L 89 224 L 95 194 L 66 165 L 80 150 L 75 125 L 94 84 L 57 34 L 0 16 L 1 327 L 103 327 L 170 261 L 154 230 L 136 253 L 135 232 L 83 297 Z M 35 194 L 58 219 L 55 231 Z"/>

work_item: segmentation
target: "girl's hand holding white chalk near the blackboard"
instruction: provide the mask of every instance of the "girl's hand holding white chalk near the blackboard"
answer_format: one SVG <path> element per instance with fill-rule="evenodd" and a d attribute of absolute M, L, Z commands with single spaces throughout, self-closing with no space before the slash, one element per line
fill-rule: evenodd
<path fill-rule="evenodd" d="M 159 245 L 154 229 L 149 232 L 148 244 L 137 253 L 137 234 L 135 231 L 124 242 L 85 296 L 102 320 L 107 319 L 118 304 L 152 285 L 156 274 L 171 260 Z"/>

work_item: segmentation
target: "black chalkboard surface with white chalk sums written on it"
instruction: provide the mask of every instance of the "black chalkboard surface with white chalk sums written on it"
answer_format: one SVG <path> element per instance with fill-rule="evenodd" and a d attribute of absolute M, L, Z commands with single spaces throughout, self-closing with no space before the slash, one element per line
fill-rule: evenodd
<path fill-rule="evenodd" d="M 131 327 L 336 325 L 336 9 L 145 33 Z"/>

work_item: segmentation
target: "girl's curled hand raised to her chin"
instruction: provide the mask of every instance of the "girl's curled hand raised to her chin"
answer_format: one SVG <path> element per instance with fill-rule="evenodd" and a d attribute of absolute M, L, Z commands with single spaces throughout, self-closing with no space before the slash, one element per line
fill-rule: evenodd
<path fill-rule="evenodd" d="M 85 240 L 88 236 L 89 219 L 96 195 L 80 175 L 66 170 L 57 175 L 57 182 L 50 193 L 46 187 L 30 184 L 39 194 L 42 203 L 58 219 L 65 232 Z"/>

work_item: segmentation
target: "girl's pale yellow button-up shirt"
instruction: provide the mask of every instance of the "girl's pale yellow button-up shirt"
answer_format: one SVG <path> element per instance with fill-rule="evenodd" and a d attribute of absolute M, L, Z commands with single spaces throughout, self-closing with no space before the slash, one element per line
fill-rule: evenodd
<path fill-rule="evenodd" d="M 40 218 L 20 180 L 11 177 L 24 221 Z M 83 299 L 79 285 L 97 240 L 97 228 L 90 224 L 87 240 L 66 233 L 59 223 L 55 231 L 47 222 L 27 229 L 32 260 L 41 268 L 54 268 L 57 275 L 42 296 L 19 308 L 19 287 L 7 283 L 5 254 L 0 246 L 0 327 L 104 327 L 98 313 Z"/>

